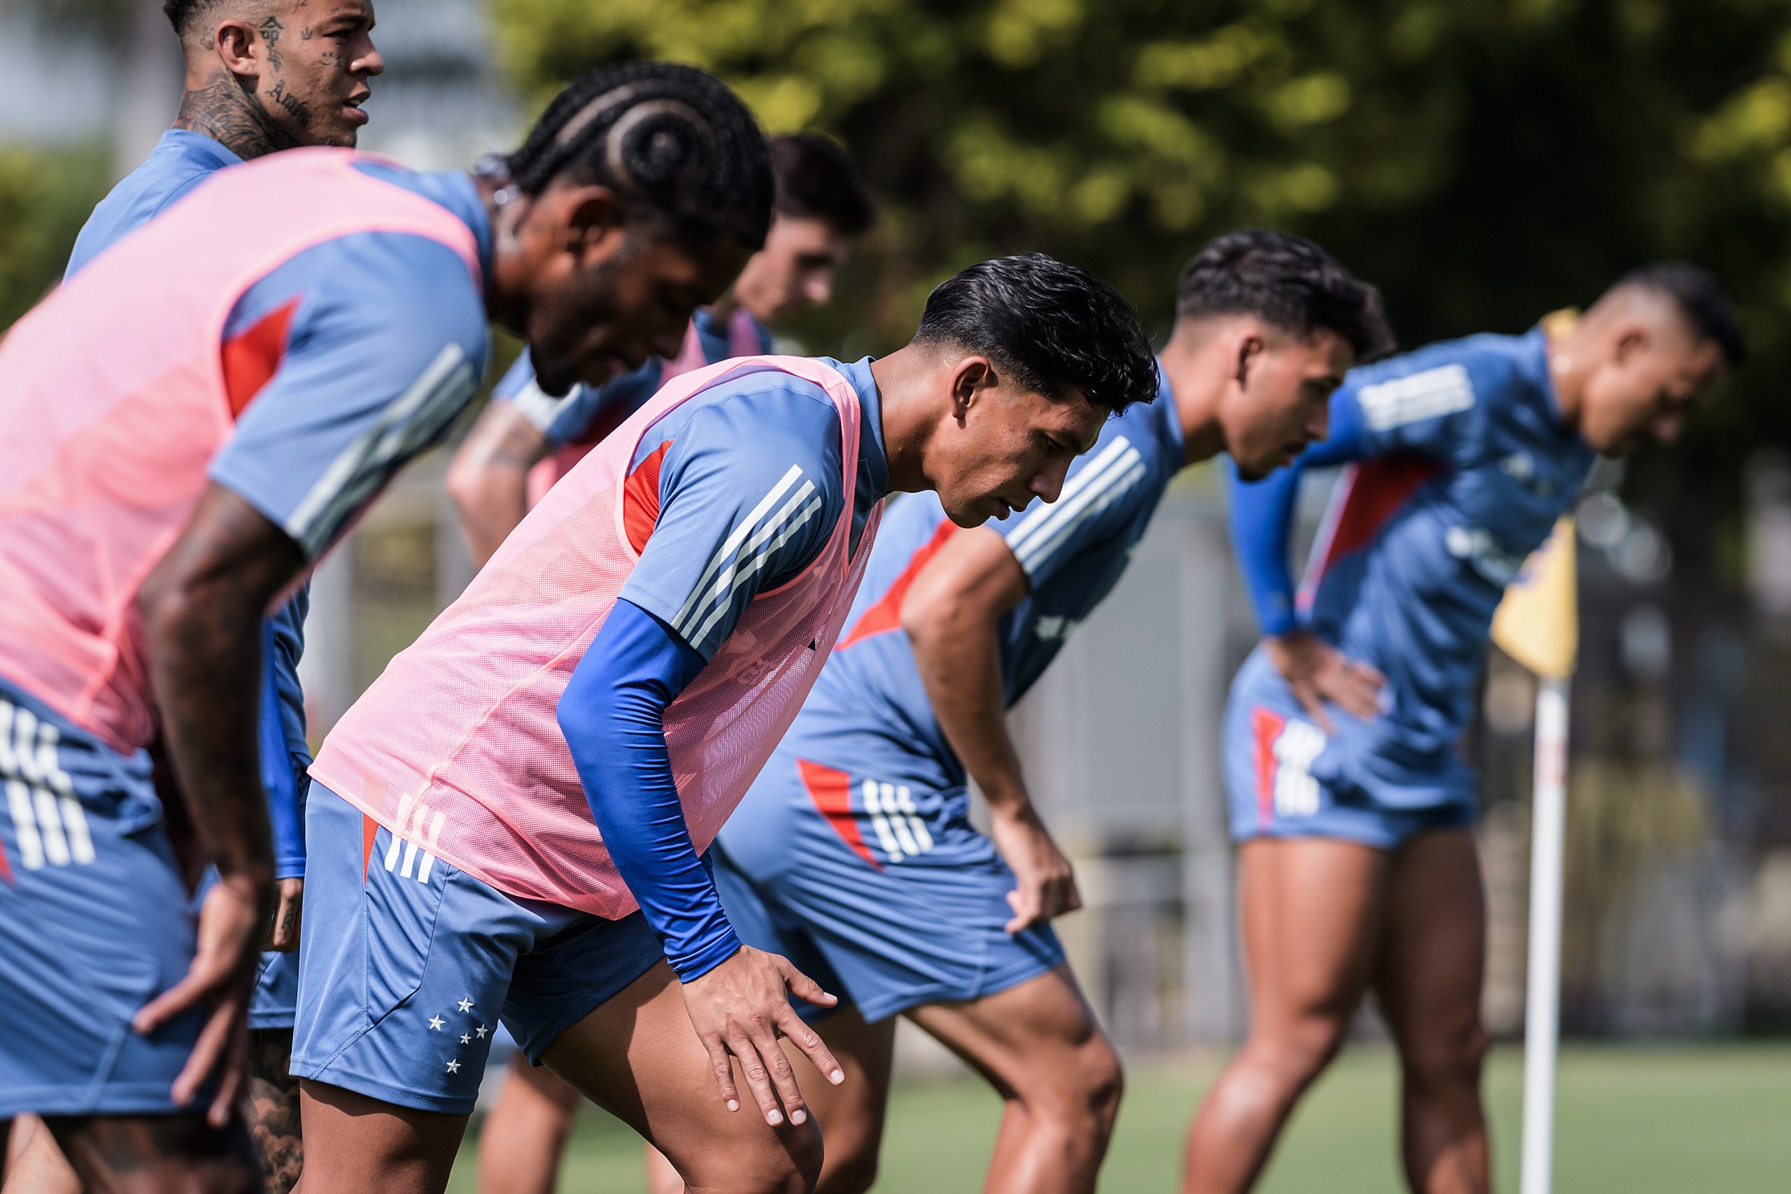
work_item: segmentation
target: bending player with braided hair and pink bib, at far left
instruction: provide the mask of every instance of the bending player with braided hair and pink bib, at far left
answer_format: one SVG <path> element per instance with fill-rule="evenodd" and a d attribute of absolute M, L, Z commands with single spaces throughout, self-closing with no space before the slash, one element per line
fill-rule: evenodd
<path fill-rule="evenodd" d="M 695 70 L 580 79 L 528 161 L 222 170 L 0 342 L 0 1122 L 41 1115 L 91 1189 L 261 1187 L 233 1106 L 272 911 L 269 609 L 446 433 L 487 313 L 548 388 L 600 383 L 675 345 L 770 222 L 765 141 Z M 219 872 L 197 925 L 158 721 Z"/>

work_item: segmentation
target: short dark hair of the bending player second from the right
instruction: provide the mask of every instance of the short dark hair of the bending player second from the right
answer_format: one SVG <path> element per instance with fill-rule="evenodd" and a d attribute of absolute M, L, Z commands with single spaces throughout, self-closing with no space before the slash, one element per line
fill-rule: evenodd
<path fill-rule="evenodd" d="M 1393 351 L 1381 292 L 1290 233 L 1238 229 L 1187 261 L 1175 319 L 1211 315 L 1257 315 L 1298 337 L 1325 328 L 1349 342 L 1356 363 Z"/>

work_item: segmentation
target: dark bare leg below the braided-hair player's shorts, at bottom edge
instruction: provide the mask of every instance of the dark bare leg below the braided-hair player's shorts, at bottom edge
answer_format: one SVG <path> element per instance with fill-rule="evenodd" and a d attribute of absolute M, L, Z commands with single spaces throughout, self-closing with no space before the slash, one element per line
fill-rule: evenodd
<path fill-rule="evenodd" d="M 242 1122 L 217 1130 L 202 1112 L 43 1122 L 91 1194 L 256 1194 L 261 1189 L 261 1167 Z"/>

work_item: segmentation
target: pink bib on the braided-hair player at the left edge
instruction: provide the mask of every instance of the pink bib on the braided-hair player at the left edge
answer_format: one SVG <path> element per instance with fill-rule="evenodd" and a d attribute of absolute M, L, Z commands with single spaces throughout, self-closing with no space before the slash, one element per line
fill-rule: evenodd
<path fill-rule="evenodd" d="M 458 217 L 353 163 L 296 149 L 219 172 L 0 342 L 0 675 L 125 754 L 154 736 L 136 593 L 238 414 L 220 354 L 236 299 L 355 233 L 437 240 L 480 286 Z"/>

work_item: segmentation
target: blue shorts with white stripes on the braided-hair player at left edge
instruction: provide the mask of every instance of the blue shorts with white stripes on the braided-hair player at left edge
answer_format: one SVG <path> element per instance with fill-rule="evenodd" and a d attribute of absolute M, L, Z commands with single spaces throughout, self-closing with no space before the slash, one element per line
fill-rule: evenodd
<path fill-rule="evenodd" d="M 131 1028 L 193 958 L 149 755 L 0 682 L 0 1121 L 179 1110 L 204 1013 Z"/>

